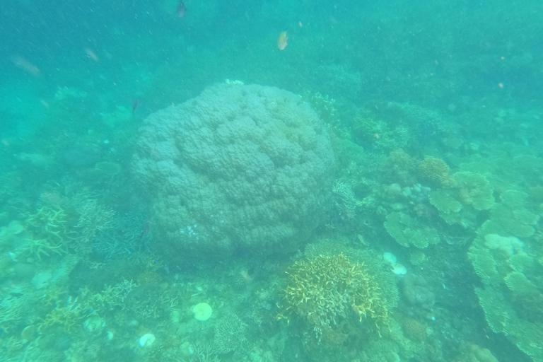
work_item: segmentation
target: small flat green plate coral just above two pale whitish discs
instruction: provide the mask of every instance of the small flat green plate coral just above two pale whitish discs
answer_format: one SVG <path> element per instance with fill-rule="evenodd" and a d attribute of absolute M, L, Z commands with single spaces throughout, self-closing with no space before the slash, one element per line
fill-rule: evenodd
<path fill-rule="evenodd" d="M 393 212 L 387 215 L 385 228 L 395 238 L 397 243 L 404 247 L 418 247 L 424 249 L 429 244 L 439 243 L 439 235 L 436 229 L 416 221 L 411 216 Z"/>

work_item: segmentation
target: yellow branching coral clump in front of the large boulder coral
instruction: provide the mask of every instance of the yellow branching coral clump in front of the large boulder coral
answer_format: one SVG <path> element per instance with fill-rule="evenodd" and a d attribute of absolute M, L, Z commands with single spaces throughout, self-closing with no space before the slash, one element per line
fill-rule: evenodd
<path fill-rule="evenodd" d="M 279 318 L 300 317 L 319 339 L 323 329 L 344 321 L 371 320 L 379 334 L 388 328 L 386 300 L 363 264 L 343 254 L 320 255 L 296 262 L 287 274 L 286 305 Z"/>

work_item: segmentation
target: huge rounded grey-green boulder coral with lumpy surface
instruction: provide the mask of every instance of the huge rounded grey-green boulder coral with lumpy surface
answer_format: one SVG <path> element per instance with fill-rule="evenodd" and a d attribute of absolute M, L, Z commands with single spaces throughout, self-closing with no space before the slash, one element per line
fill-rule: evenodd
<path fill-rule="evenodd" d="M 296 250 L 323 220 L 334 162 L 300 97 L 218 84 L 147 117 L 133 170 L 170 250 L 267 254 Z"/>

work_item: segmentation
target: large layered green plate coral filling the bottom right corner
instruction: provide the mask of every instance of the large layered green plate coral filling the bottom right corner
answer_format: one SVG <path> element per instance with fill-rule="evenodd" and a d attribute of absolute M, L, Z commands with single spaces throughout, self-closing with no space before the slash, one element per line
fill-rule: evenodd
<path fill-rule="evenodd" d="M 537 264 L 518 238 L 484 235 L 488 229 L 488 225 L 479 229 L 468 254 L 484 283 L 484 288 L 475 292 L 486 322 L 525 354 L 542 361 L 543 285 Z"/>

